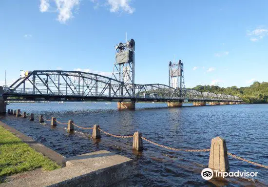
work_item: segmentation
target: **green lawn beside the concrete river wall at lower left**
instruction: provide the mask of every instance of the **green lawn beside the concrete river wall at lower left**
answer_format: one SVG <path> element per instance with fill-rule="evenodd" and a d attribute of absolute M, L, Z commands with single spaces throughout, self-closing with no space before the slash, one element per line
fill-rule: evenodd
<path fill-rule="evenodd" d="M 55 162 L 0 126 L 0 183 L 4 182 L 8 175 L 39 167 L 47 171 L 60 168 Z"/>

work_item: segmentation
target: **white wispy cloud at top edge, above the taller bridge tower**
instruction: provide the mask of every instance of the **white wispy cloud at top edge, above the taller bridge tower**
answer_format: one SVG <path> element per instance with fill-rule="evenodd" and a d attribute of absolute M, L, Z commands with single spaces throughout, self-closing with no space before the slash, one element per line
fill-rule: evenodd
<path fill-rule="evenodd" d="M 130 2 L 131 0 L 107 0 L 107 3 L 111 6 L 110 12 L 118 12 L 122 9 L 123 11 L 132 14 L 135 11 L 135 8 L 129 5 Z"/>

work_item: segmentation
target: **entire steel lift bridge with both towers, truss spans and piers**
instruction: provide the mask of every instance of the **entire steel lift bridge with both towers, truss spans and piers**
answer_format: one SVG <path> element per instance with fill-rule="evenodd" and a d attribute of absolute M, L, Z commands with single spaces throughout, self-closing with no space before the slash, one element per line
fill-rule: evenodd
<path fill-rule="evenodd" d="M 118 108 L 134 108 L 135 102 L 167 102 L 168 106 L 240 104 L 237 96 L 185 89 L 183 62 L 169 63 L 169 85 L 134 83 L 135 42 L 115 46 L 112 77 L 81 71 L 25 71 L 2 98 L 7 100 L 117 101 Z"/>

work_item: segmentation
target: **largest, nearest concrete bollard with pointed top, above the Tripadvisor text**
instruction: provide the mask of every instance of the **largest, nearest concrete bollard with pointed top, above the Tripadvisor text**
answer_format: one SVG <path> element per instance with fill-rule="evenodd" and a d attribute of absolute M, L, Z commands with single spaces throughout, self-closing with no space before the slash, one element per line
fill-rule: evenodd
<path fill-rule="evenodd" d="M 218 171 L 229 170 L 226 142 L 219 136 L 211 140 L 209 168 Z"/>

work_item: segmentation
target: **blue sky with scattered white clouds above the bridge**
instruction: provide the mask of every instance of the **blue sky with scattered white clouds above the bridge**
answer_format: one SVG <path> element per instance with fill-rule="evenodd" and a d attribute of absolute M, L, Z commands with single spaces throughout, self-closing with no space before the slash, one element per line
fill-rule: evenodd
<path fill-rule="evenodd" d="M 168 84 L 181 59 L 187 87 L 268 81 L 267 0 L 1 0 L 0 85 L 20 70 L 110 76 L 115 44 L 135 40 L 135 83 Z"/>

